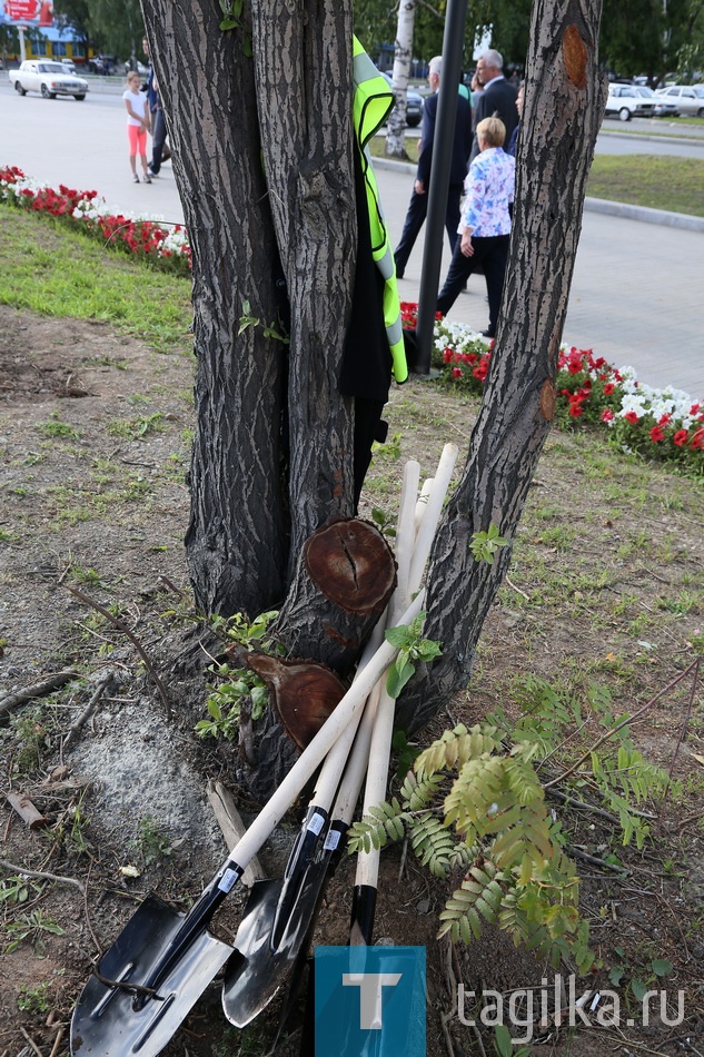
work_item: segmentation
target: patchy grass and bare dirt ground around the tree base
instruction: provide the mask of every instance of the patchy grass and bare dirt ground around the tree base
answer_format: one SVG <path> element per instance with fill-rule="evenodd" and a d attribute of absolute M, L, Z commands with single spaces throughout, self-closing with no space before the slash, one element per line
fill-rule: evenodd
<path fill-rule="evenodd" d="M 212 680 L 206 666 L 214 654 L 192 604 L 184 550 L 195 425 L 190 320 L 188 279 L 105 251 L 46 217 L 0 207 L 0 686 L 33 689 L 28 699 L 0 692 L 0 758 L 3 788 L 31 791 L 50 823 L 32 830 L 12 821 L 4 806 L 2 1055 L 29 1053 L 24 1043 L 37 1039 L 41 1048 L 36 1044 L 33 1051 L 66 1057 L 66 1045 L 54 1043 L 90 975 L 89 923 L 96 947 L 105 948 L 150 888 L 188 905 L 222 853 L 205 840 L 210 818 L 202 790 L 207 778 L 220 774 L 235 789 L 238 750 L 222 741 L 216 749 L 194 734 L 207 714 L 206 682 Z M 389 438 L 375 451 L 361 515 L 395 520 L 406 460 L 418 461 L 425 480 L 452 439 L 462 465 L 478 409 L 475 397 L 439 382 L 394 386 L 385 409 Z M 519 426 L 509 427 L 523 444 Z M 504 470 L 498 461 L 493 466 L 499 520 Z M 457 518 L 465 539 L 467 521 Z M 497 710 L 509 730 L 523 724 L 523 743 L 534 747 L 552 798 L 551 817 L 579 868 L 581 913 L 604 979 L 611 972 L 608 981 L 618 981 L 625 1008 L 634 984 L 650 986 L 664 975 L 663 987 L 683 995 L 678 1038 L 697 1037 L 704 980 L 704 701 L 694 670 L 704 648 L 703 522 L 701 482 L 616 451 L 576 422 L 553 429 L 472 680 L 418 737 L 427 744 L 446 727 L 472 727 Z M 136 643 L 153 659 L 149 672 Z M 172 718 L 149 678 L 159 671 Z M 66 672 L 70 681 L 39 697 L 38 676 L 48 672 Z M 626 715 L 634 717 L 628 729 Z M 564 733 L 548 750 L 546 739 L 558 727 Z M 609 748 L 618 729 L 628 745 Z M 477 759 L 483 750 L 473 743 L 470 751 Z M 595 757 L 604 761 L 598 768 Z M 90 760 L 100 776 L 96 784 Z M 606 770 L 619 776 L 616 799 L 607 802 Z M 628 814 L 624 798 L 634 776 L 645 784 L 631 800 L 639 813 Z M 663 792 L 667 776 L 673 782 Z M 116 791 L 106 794 L 109 783 Z M 138 807 L 128 799 L 130 783 Z M 494 787 L 487 789 L 482 796 L 493 797 Z M 516 790 L 500 796 L 510 797 L 512 811 L 515 801 L 527 813 Z M 634 830 L 638 823 L 642 841 L 626 846 L 624 818 Z M 282 861 L 280 849 L 286 843 L 277 837 Z M 529 876 L 534 868 L 527 853 L 524 859 L 520 869 Z M 269 876 L 280 876 L 282 867 L 269 862 Z M 479 862 L 490 860 L 477 853 L 473 869 Z M 43 872 L 47 863 L 51 873 Z M 345 856 L 320 912 L 319 927 L 336 945 L 348 938 L 354 870 Z M 436 939 L 437 913 L 465 867 L 432 876 L 413 848 L 406 856 L 398 843 L 385 849 L 381 871 L 378 933 L 426 947 L 427 1054 L 446 1057 L 444 1029 L 456 1020 L 456 998 L 440 970 L 449 948 Z M 544 877 L 553 889 L 553 875 Z M 569 880 L 575 886 L 576 877 Z M 498 930 L 470 945 L 457 941 L 453 950 L 466 980 L 512 997 L 527 986 L 537 992 L 548 971 L 548 962 L 515 949 Z M 584 987 L 594 986 L 591 975 Z M 285 1047 L 270 1048 L 267 1033 L 272 1036 L 278 1019 L 265 1016 L 256 1036 L 240 1037 L 212 1001 L 194 1016 L 184 1045 L 168 1053 L 186 1051 L 186 1044 L 190 1057 L 298 1053 L 296 1033 Z M 638 1025 L 629 1018 L 616 1039 L 624 1051 L 627 1045 L 628 1053 L 674 1053 L 664 1048 L 671 1027 Z M 611 1053 L 603 1038 L 612 1036 L 599 1035 L 601 1048 L 588 1053 Z M 480 1053 L 498 1053 L 488 1034 L 485 1043 Z M 551 1054 L 587 1053 L 573 1044 L 569 1035 Z M 478 1053 L 463 1045 L 469 1051 Z"/>

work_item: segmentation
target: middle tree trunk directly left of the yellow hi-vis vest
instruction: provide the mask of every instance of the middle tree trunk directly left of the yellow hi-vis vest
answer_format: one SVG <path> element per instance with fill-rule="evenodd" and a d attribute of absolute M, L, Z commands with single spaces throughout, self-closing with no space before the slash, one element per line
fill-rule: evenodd
<path fill-rule="evenodd" d="M 351 12 L 334 0 L 251 9 L 264 166 L 291 304 L 290 579 L 304 541 L 354 506 L 351 402 L 338 391 L 357 244 Z"/>

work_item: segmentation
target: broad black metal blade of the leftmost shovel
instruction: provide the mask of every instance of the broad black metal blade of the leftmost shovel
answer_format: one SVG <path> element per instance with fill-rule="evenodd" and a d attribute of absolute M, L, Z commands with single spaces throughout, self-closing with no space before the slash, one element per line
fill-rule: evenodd
<path fill-rule="evenodd" d="M 184 920 L 148 896 L 103 955 L 108 980 L 140 985 Z M 157 1057 L 225 965 L 232 948 L 204 930 L 177 959 L 142 1008 L 129 990 L 91 977 L 71 1019 L 72 1057 Z"/>

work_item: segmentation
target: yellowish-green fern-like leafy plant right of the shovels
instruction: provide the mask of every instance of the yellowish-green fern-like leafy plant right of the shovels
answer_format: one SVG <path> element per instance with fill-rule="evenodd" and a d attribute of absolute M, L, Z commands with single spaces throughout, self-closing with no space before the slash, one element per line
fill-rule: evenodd
<path fill-rule="evenodd" d="M 588 923 L 579 917 L 568 837 L 547 807 L 544 783 L 554 784 L 559 760 L 561 779 L 606 803 L 623 842 L 642 847 L 647 819 L 633 806 L 662 793 L 667 776 L 634 750 L 628 724 L 603 688 L 589 688 L 581 701 L 528 676 L 515 690 L 516 722 L 497 709 L 483 723 L 445 731 L 417 757 L 398 797 L 351 827 L 349 848 L 368 851 L 406 838 L 435 876 L 464 871 L 440 912 L 440 936 L 469 944 L 490 922 L 555 968 L 568 957 L 584 974 L 594 961 Z"/>

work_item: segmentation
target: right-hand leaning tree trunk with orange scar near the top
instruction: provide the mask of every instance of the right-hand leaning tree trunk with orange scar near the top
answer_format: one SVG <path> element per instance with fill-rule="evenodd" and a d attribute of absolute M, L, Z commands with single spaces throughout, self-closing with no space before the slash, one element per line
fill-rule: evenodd
<path fill-rule="evenodd" d="M 601 0 L 537 0 L 522 118 L 516 208 L 499 327 L 462 482 L 440 523 L 425 634 L 443 656 L 403 695 L 417 730 L 467 685 L 483 622 L 510 560 L 475 562 L 475 532 L 512 539 L 551 428 L 555 375 L 582 227 L 586 178 L 606 98 L 596 41 Z"/>

